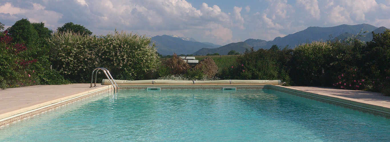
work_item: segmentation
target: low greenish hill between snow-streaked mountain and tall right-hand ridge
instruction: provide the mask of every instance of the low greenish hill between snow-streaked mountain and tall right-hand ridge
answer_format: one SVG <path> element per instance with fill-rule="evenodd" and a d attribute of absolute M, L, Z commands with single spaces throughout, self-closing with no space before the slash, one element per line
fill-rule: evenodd
<path fill-rule="evenodd" d="M 218 48 L 202 48 L 197 52 L 193 53 L 193 55 L 207 55 L 218 53 L 220 55 L 227 55 L 229 51 L 236 50 L 236 52 L 244 53 L 246 49 L 250 49 L 251 47 L 245 42 L 238 43 L 230 43 L 228 45 L 218 47 Z"/>

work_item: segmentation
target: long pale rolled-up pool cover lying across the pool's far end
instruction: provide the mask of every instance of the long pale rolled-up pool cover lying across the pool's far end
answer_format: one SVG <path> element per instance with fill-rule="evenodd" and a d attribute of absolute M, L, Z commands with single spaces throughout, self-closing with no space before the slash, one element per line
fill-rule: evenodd
<path fill-rule="evenodd" d="M 115 80 L 119 85 L 126 84 L 258 84 L 258 85 L 283 85 L 281 80 Z M 111 85 L 110 80 L 103 79 L 101 85 Z"/>

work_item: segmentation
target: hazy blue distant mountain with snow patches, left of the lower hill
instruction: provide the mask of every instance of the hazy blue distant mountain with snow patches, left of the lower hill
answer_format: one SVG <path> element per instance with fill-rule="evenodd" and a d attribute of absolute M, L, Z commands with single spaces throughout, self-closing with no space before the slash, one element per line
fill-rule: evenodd
<path fill-rule="evenodd" d="M 192 54 L 201 48 L 215 48 L 215 46 L 205 43 L 187 41 L 168 35 L 154 36 L 152 41 L 156 42 L 157 52 L 161 55 L 172 55 L 173 53 L 186 55 Z"/>

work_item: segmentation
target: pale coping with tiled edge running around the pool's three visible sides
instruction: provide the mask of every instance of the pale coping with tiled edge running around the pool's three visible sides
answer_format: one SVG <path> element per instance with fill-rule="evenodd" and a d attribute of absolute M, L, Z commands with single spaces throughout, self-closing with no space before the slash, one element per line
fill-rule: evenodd
<path fill-rule="evenodd" d="M 338 97 L 335 95 L 330 94 L 319 94 L 319 93 L 313 93 L 313 92 L 307 92 L 302 90 L 297 90 L 281 85 L 253 85 L 253 84 L 245 84 L 245 85 L 232 85 L 232 84 L 218 84 L 218 85 L 184 85 L 184 84 L 175 84 L 175 85 L 119 85 L 120 89 L 126 89 L 126 88 L 147 88 L 147 87 L 161 87 L 161 88 L 188 88 L 188 89 L 215 89 L 215 88 L 222 88 L 222 87 L 235 87 L 235 88 L 267 88 L 267 89 L 273 89 L 279 92 L 284 92 L 291 95 L 297 95 L 300 97 L 305 97 L 308 99 L 313 99 L 321 102 L 326 102 L 329 104 L 334 104 L 337 106 L 346 107 L 349 109 L 362 111 L 369 114 L 374 114 L 376 116 L 382 116 L 385 118 L 390 118 L 390 107 L 383 107 L 378 106 L 375 104 L 371 104 L 369 101 L 367 102 L 357 102 L 351 99 L 346 99 L 345 97 Z M 106 92 L 112 90 L 112 85 L 107 85 L 100 88 L 95 88 L 92 90 L 88 90 L 85 92 L 69 95 L 63 98 L 50 100 L 47 102 L 43 102 L 40 104 L 35 104 L 33 106 L 24 107 L 15 111 L 10 111 L 7 113 L 0 114 L 0 128 L 10 125 L 12 123 L 16 123 L 18 121 L 21 121 L 23 119 L 34 117 L 38 114 L 45 113 L 47 111 L 51 111 L 53 109 L 56 109 L 58 107 L 65 106 L 67 104 L 71 104 L 73 102 L 76 102 L 78 100 L 82 100 L 88 97 L 92 97 L 94 95 L 97 95 L 102 92 Z"/>

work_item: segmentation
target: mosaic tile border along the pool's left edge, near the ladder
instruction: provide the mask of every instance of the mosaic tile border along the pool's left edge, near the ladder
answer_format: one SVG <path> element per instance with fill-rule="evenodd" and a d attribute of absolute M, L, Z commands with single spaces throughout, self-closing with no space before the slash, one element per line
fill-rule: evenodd
<path fill-rule="evenodd" d="M 31 118 L 31 117 L 34 117 L 34 116 L 37 116 L 39 114 L 43 114 L 43 113 L 46 113 L 48 111 L 52 111 L 54 109 L 57 109 L 57 108 L 60 108 L 60 107 L 63 107 L 63 106 L 66 106 L 68 104 L 72 104 L 74 102 L 77 102 L 77 101 L 80 101 L 80 100 L 83 100 L 83 99 L 87 99 L 89 97 L 92 97 L 94 95 L 97 95 L 97 94 L 101 94 L 101 93 L 105 93 L 105 92 L 108 92 L 112 90 L 111 87 L 110 88 L 103 88 L 102 90 L 97 90 L 96 92 L 91 92 L 87 95 L 83 94 L 84 96 L 82 97 L 75 97 L 75 98 L 71 98 L 71 99 L 68 99 L 64 102 L 60 102 L 58 104 L 55 104 L 55 105 L 47 105 L 47 106 L 43 106 L 43 107 L 39 107 L 37 109 L 33 109 L 31 110 L 31 112 L 25 112 L 25 114 L 21 113 L 21 114 L 16 114 L 14 116 L 10 116 L 8 119 L 5 118 L 5 120 L 3 121 L 0 121 L 0 129 L 2 129 L 3 127 L 5 126 L 8 126 L 12 123 L 16 123 L 16 122 L 19 122 L 19 121 L 22 121 L 24 119 L 28 119 L 28 118 Z"/>

